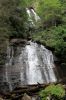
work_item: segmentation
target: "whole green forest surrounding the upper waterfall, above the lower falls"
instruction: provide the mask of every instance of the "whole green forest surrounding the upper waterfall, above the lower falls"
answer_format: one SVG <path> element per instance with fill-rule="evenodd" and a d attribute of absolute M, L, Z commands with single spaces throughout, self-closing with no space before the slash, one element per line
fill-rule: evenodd
<path fill-rule="evenodd" d="M 29 33 L 26 8 L 41 18 L 39 31 Z M 0 0 L 0 64 L 4 64 L 7 41 L 31 37 L 53 49 L 66 66 L 66 0 Z"/>

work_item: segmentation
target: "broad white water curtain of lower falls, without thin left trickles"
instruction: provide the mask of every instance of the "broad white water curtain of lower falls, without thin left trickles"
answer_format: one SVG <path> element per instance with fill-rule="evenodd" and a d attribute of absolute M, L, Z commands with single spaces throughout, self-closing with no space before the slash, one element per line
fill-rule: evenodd
<path fill-rule="evenodd" d="M 44 46 L 32 42 L 26 46 L 26 52 L 29 66 L 26 72 L 28 84 L 55 82 L 56 77 L 53 71 L 55 66 L 52 52 Z"/>

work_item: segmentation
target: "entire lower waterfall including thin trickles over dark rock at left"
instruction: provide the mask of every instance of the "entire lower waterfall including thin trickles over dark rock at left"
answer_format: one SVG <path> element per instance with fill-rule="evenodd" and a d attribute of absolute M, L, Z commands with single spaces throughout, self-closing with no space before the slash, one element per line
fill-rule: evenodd
<path fill-rule="evenodd" d="M 9 46 L 0 86 L 12 91 L 17 86 L 56 82 L 55 69 L 53 54 L 43 45 L 29 41 L 25 46 Z"/>

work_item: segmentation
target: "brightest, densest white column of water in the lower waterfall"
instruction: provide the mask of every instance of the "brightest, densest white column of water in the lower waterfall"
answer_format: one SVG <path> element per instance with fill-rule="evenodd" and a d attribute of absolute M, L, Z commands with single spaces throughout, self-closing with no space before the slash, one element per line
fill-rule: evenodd
<path fill-rule="evenodd" d="M 36 51 L 36 45 L 31 45 L 26 46 L 26 52 L 28 54 L 28 68 L 27 68 L 27 78 L 28 78 L 28 84 L 37 84 L 37 82 L 41 83 L 43 82 L 42 80 L 42 75 L 39 70 L 39 59 L 37 57 L 37 51 Z M 38 76 L 38 77 L 36 77 Z"/>

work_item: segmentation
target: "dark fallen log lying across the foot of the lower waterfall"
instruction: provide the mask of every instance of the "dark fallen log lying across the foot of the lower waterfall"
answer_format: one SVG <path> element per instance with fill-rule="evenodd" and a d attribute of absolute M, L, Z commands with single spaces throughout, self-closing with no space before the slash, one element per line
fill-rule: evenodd
<path fill-rule="evenodd" d="M 5 97 L 8 98 L 19 98 L 22 97 L 24 93 L 27 93 L 30 96 L 33 96 L 35 94 L 37 94 L 37 92 L 42 89 L 47 87 L 50 84 L 59 84 L 62 83 L 63 80 L 60 80 L 59 82 L 54 82 L 54 83 L 48 83 L 48 84 L 32 84 L 32 85 L 26 85 L 26 86 L 22 86 L 22 87 L 16 87 L 12 92 L 4 94 Z M 66 85 L 64 85 L 64 88 L 66 89 Z M 13 96 L 14 95 L 14 96 Z"/>

